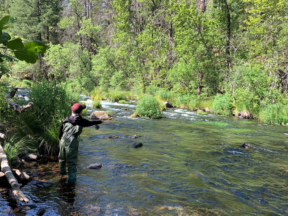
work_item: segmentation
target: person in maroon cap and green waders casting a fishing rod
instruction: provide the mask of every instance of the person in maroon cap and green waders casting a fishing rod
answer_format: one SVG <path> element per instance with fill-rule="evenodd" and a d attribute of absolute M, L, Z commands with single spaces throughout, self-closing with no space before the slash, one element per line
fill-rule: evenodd
<path fill-rule="evenodd" d="M 76 162 L 78 159 L 79 141 L 77 137 L 82 133 L 83 127 L 102 124 L 103 120 L 89 121 L 82 118 L 82 111 L 85 104 L 75 103 L 71 107 L 72 114 L 65 118 L 59 128 L 59 166 L 60 175 L 66 174 L 66 164 L 68 166 L 68 182 L 76 181 Z"/>

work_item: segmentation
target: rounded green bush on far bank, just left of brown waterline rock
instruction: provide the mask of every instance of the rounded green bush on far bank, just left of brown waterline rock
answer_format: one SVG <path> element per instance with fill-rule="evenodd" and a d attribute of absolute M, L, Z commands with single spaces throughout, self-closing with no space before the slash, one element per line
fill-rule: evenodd
<path fill-rule="evenodd" d="M 212 112 L 219 115 L 231 115 L 232 99 L 225 94 L 218 94 L 212 107 Z"/>

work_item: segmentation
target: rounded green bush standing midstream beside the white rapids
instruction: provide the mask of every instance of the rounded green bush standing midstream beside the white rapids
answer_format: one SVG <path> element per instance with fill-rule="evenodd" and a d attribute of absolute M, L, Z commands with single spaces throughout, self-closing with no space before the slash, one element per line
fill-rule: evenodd
<path fill-rule="evenodd" d="M 155 96 L 147 95 L 136 105 L 136 113 L 143 118 L 160 118 L 162 115 L 162 111 L 159 109 L 160 106 L 161 104 Z"/>

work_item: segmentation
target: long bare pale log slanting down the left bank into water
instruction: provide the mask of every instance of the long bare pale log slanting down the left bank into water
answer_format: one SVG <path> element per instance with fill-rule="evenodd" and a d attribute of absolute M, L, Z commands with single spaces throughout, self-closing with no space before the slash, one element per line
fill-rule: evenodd
<path fill-rule="evenodd" d="M 13 194 L 17 196 L 20 201 L 29 202 L 29 199 L 20 190 L 22 184 L 19 184 L 17 179 L 14 177 L 11 168 L 9 166 L 9 162 L 7 160 L 7 155 L 3 147 L 1 146 L 1 143 L 0 143 L 0 161 L 1 161 L 1 171 L 5 174 L 7 181 L 11 185 Z"/>

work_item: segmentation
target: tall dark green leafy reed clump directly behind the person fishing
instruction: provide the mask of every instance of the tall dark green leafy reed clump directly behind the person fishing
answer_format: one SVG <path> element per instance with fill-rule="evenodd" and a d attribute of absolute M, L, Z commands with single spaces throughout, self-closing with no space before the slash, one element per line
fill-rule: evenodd
<path fill-rule="evenodd" d="M 71 105 L 79 101 L 79 95 L 68 92 L 65 84 L 43 81 L 33 84 L 28 97 L 33 106 L 20 116 L 31 133 L 38 137 L 40 149 L 55 154 L 59 146 L 58 129 L 71 114 Z"/>

